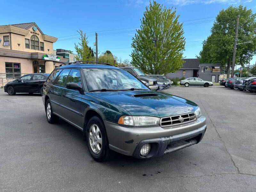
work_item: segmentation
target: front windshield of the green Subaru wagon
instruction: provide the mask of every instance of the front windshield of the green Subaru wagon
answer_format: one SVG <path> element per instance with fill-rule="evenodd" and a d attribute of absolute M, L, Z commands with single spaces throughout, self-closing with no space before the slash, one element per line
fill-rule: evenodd
<path fill-rule="evenodd" d="M 84 68 L 84 75 L 89 91 L 145 89 L 148 87 L 125 70 L 106 68 Z"/>

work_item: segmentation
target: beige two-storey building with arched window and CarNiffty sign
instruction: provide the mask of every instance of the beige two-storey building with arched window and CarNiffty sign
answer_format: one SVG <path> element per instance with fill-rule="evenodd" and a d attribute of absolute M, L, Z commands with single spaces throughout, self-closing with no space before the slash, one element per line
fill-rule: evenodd
<path fill-rule="evenodd" d="M 68 59 L 55 55 L 58 38 L 45 35 L 33 23 L 0 26 L 0 86 L 28 73 L 51 73 Z"/>

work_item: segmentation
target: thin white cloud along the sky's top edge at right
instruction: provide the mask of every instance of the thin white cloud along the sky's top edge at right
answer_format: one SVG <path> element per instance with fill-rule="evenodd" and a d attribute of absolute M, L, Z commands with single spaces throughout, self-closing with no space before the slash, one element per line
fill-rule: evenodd
<path fill-rule="evenodd" d="M 248 0 L 252 1 L 252 0 Z M 190 4 L 212 4 L 212 3 L 222 3 L 222 4 L 237 4 L 240 0 L 166 0 L 168 4 L 173 5 L 190 5 Z"/>

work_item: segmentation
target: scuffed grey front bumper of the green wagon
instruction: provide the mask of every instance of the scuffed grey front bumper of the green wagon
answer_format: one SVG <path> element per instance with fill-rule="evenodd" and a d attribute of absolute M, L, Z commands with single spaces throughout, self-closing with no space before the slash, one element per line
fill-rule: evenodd
<path fill-rule="evenodd" d="M 188 124 L 164 128 L 160 126 L 124 127 L 109 121 L 104 121 L 104 124 L 110 149 L 127 156 L 141 159 L 162 156 L 176 149 L 184 148 L 178 146 L 173 150 L 172 146 L 183 141 L 189 143 L 188 140 L 195 139 L 196 142 L 192 144 L 196 144 L 203 138 L 206 130 L 204 116 Z M 140 156 L 140 149 L 145 143 L 151 144 L 151 150 L 147 156 Z M 183 146 L 188 147 L 190 145 L 185 144 Z"/>

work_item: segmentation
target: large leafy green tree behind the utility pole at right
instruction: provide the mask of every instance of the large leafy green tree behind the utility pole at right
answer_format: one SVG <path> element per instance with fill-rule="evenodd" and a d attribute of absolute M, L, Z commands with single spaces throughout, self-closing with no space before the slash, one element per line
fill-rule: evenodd
<path fill-rule="evenodd" d="M 252 41 L 253 43 L 239 44 L 236 49 L 236 65 L 248 63 L 256 53 L 256 13 L 242 5 L 229 6 L 222 9 L 216 17 L 211 29 L 211 35 L 203 42 L 203 49 L 197 58 L 201 63 L 221 63 L 227 66 L 229 77 L 232 62 L 237 15 L 240 14 L 237 43 Z"/>

